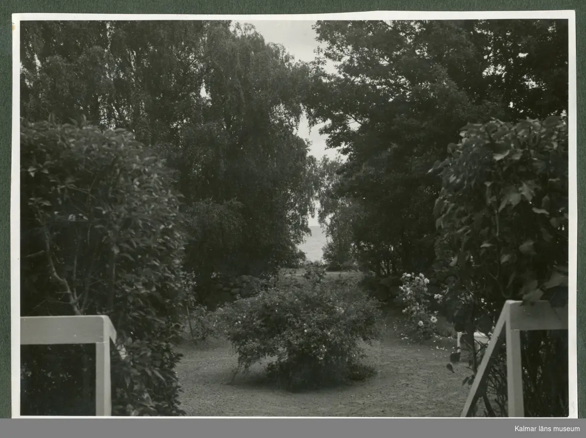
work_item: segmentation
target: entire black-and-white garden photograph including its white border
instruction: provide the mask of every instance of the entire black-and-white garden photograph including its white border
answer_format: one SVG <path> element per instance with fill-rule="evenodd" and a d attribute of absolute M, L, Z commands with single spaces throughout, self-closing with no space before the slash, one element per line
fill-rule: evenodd
<path fill-rule="evenodd" d="M 577 418 L 573 15 L 15 26 L 13 415 Z"/>

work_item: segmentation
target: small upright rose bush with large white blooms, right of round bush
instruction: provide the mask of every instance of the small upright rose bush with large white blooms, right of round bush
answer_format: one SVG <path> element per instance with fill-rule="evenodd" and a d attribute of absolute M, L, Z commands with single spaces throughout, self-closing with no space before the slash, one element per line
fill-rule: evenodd
<path fill-rule="evenodd" d="M 420 273 L 415 276 L 412 273 L 404 273 L 403 286 L 400 287 L 399 299 L 405 306 L 403 313 L 408 317 L 411 326 L 421 336 L 428 338 L 435 334 L 435 324 L 437 323 L 437 313 L 430 310 L 430 293 L 427 285 L 430 282 Z M 441 296 L 438 294 L 434 297 L 438 302 Z"/>

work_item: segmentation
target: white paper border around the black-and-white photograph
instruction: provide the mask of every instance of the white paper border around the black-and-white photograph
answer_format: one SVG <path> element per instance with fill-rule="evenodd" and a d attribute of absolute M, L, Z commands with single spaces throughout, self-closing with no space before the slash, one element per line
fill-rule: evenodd
<path fill-rule="evenodd" d="M 294 15 L 165 15 L 165 14 L 102 14 L 102 13 L 16 13 L 12 15 L 12 169 L 11 169 L 11 377 L 12 418 L 20 415 L 20 24 L 32 20 L 479 20 L 479 19 L 567 19 L 568 20 L 568 132 L 569 132 L 569 418 L 578 418 L 577 380 L 577 85 L 575 11 L 370 11 Z M 94 418 L 55 416 L 50 418 Z M 111 417 L 110 417 L 111 418 Z M 168 417 L 175 418 L 175 417 Z M 261 417 L 197 417 L 197 418 L 261 418 Z M 291 418 L 291 417 L 271 417 Z M 314 417 L 304 417 L 314 418 Z M 322 417 L 315 417 L 322 418 Z M 336 417 L 338 418 L 338 417 Z M 420 418 L 420 417 L 413 417 Z M 421 417 L 434 418 L 434 417 Z"/>

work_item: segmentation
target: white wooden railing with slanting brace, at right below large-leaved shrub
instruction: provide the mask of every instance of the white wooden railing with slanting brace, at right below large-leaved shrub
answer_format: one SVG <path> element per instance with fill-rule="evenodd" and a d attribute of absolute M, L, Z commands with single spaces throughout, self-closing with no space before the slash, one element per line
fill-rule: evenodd
<path fill-rule="evenodd" d="M 468 399 L 462 409 L 462 417 L 469 417 L 482 396 L 492 354 L 503 341 L 503 331 L 507 349 L 507 401 L 509 417 L 523 417 L 523 368 L 521 364 L 521 331 L 529 330 L 567 330 L 568 307 L 555 308 L 546 301 L 523 304 L 509 300 L 503 306 L 493 335 L 490 337 L 481 364 L 476 372 Z"/>

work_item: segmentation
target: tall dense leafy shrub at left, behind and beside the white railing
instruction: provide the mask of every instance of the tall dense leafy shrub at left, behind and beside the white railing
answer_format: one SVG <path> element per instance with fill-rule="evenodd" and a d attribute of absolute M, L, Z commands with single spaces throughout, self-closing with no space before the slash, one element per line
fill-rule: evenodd
<path fill-rule="evenodd" d="M 114 415 L 182 412 L 172 341 L 184 236 L 172 182 L 128 131 L 21 124 L 22 315 L 110 317 L 127 352 L 112 356 Z M 70 415 L 93 415 L 93 361 L 74 347 L 23 351 L 23 410 L 71 402 Z"/>

